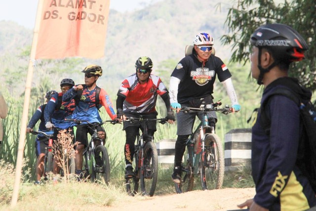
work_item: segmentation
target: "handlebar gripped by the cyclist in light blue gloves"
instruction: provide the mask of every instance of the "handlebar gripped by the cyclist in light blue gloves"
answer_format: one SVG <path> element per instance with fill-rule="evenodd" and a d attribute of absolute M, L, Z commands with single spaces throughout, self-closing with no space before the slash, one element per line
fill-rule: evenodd
<path fill-rule="evenodd" d="M 190 108 L 187 106 L 182 106 L 180 111 L 184 113 L 203 113 L 203 112 L 210 112 L 210 111 L 216 111 L 221 114 L 229 114 L 233 112 L 233 109 L 226 105 L 224 108 L 219 108 L 218 106 L 222 105 L 220 101 L 213 103 L 213 104 L 208 104 L 208 105 L 203 105 L 201 108 Z"/>

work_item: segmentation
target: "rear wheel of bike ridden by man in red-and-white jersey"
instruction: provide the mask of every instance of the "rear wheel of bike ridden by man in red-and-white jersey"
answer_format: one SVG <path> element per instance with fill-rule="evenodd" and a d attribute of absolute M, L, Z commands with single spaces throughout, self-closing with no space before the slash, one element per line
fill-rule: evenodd
<path fill-rule="evenodd" d="M 125 180 L 125 185 L 126 185 L 126 191 L 127 194 L 130 196 L 135 196 L 138 193 L 138 188 L 139 188 L 139 171 L 140 169 L 136 168 L 136 166 L 138 165 L 138 154 L 134 153 L 133 156 L 133 169 L 134 169 L 134 174 L 135 177 L 132 178 L 128 178 Z"/>

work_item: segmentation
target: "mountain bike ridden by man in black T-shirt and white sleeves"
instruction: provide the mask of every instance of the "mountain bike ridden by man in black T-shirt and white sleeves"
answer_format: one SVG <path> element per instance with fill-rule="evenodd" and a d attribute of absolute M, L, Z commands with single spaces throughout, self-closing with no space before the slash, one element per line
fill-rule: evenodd
<path fill-rule="evenodd" d="M 224 181 L 225 163 L 222 141 L 215 134 L 214 127 L 208 125 L 207 113 L 216 111 L 222 114 L 229 114 L 232 109 L 220 101 L 201 105 L 200 108 L 182 107 L 181 112 L 202 114 L 202 118 L 196 130 L 186 142 L 187 154 L 182 167 L 182 180 L 175 183 L 177 193 L 192 191 L 195 175 L 200 176 L 203 190 L 222 188 Z"/>

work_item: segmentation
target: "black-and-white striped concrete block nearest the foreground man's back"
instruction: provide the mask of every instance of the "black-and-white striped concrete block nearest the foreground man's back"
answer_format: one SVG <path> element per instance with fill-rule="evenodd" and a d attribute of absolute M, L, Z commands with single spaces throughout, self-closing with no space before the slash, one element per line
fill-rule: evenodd
<path fill-rule="evenodd" d="M 251 129 L 232 129 L 225 134 L 225 170 L 251 167 Z"/>

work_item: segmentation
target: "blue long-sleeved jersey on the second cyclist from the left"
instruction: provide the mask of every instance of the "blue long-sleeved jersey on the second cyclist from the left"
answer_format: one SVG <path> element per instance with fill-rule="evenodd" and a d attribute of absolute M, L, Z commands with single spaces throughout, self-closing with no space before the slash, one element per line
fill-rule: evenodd
<path fill-rule="evenodd" d="M 52 95 L 44 111 L 44 118 L 46 123 L 51 122 L 57 128 L 68 129 L 71 122 L 65 121 L 65 118 L 71 118 L 76 105 L 75 100 L 62 101 L 62 96 L 62 92 Z"/>

